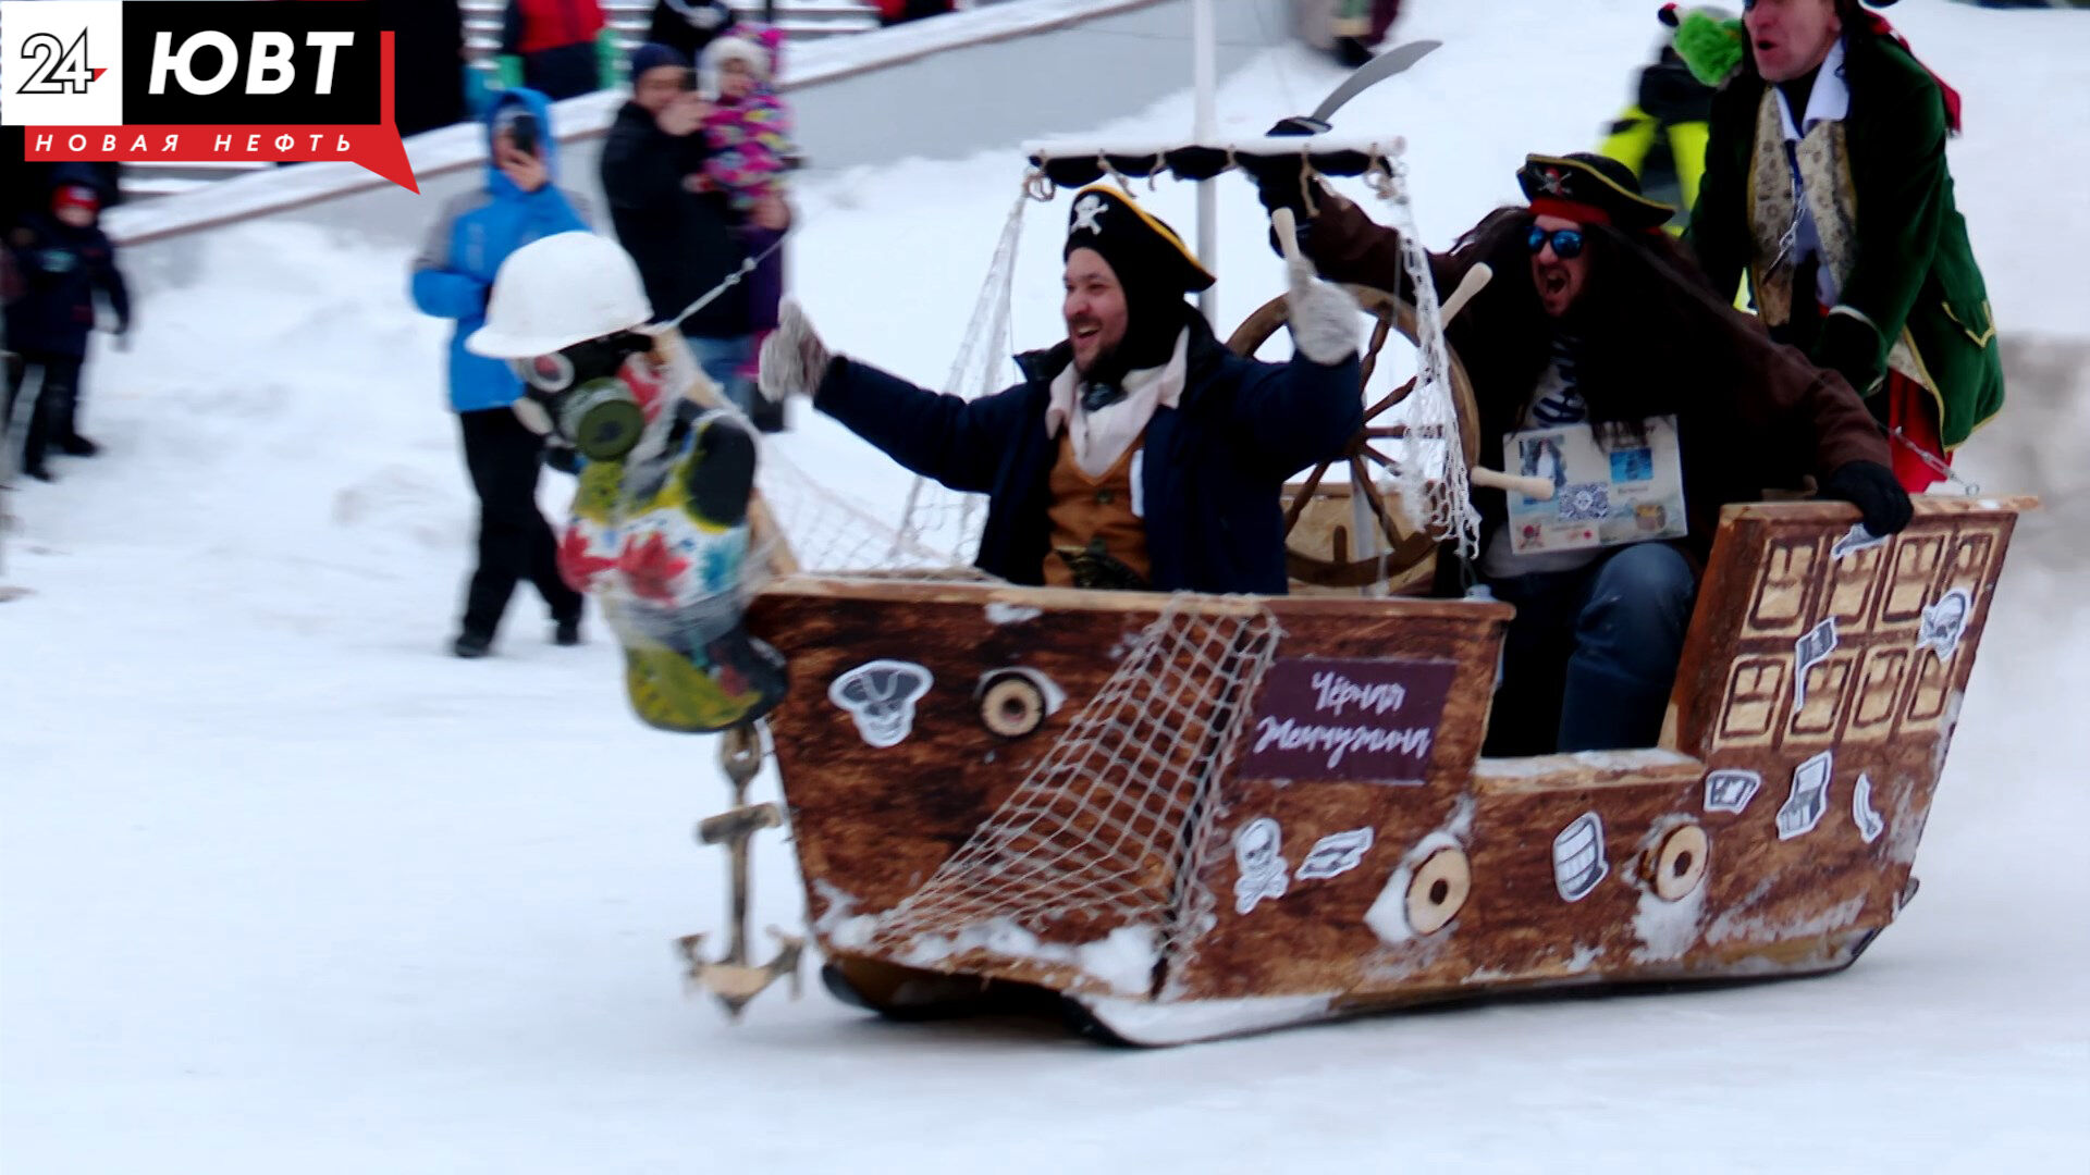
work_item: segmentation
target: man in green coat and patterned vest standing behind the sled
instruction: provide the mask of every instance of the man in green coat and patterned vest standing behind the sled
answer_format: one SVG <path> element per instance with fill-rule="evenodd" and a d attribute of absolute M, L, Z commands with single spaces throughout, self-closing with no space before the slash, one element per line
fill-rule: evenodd
<path fill-rule="evenodd" d="M 1902 485 L 1925 489 L 2002 408 L 1946 167 L 1958 94 L 1858 0 L 1749 0 L 1741 36 L 1685 240 L 1716 289 L 1747 272 L 1772 337 L 1850 381 L 1906 441 Z"/>

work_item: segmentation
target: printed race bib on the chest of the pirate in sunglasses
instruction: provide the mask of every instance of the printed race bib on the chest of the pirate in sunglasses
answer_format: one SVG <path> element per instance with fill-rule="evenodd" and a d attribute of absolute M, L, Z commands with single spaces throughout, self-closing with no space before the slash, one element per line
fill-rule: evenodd
<path fill-rule="evenodd" d="M 1588 424 L 1511 433 L 1503 458 L 1509 473 L 1553 483 L 1551 502 L 1509 493 L 1515 554 L 1680 539 L 1689 531 L 1674 416 L 1649 416 L 1639 437 L 1611 445 Z"/>

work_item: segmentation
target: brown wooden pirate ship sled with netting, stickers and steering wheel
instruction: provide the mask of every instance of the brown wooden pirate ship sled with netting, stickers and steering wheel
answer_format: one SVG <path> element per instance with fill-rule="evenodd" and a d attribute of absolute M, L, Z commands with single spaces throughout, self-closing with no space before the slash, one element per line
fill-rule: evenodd
<path fill-rule="evenodd" d="M 1202 180 L 1256 151 L 1398 197 L 1377 144 L 1032 165 Z M 867 571 L 777 548 L 746 625 L 790 663 L 763 723 L 840 993 L 895 1016 L 918 991 L 1058 1006 L 1106 1037 L 1181 1043 L 1511 991 L 1831 972 L 1894 922 L 2036 502 L 1919 498 L 1887 539 L 1845 504 L 1728 506 L 1659 744 L 1486 759 L 1513 610 L 1417 594 L 1457 542 L 1478 443 L 1442 343 L 1461 295 L 1438 303 L 1419 247 L 1407 276 L 1398 297 L 1354 291 L 1375 318 L 1369 418 L 1290 491 L 1292 596 L 1016 588 L 934 567 L 905 535 L 886 554 L 920 558 Z M 1254 351 L 1281 320 L 1277 299 L 1231 345 Z M 1394 335 L 1417 374 L 1379 395 L 1369 368 Z M 736 1012 L 800 947 L 780 935 L 775 962 L 746 962 L 748 838 L 784 820 L 744 803 L 761 746 L 729 732 L 736 809 L 702 830 L 734 849 L 732 951 L 683 943 Z"/>

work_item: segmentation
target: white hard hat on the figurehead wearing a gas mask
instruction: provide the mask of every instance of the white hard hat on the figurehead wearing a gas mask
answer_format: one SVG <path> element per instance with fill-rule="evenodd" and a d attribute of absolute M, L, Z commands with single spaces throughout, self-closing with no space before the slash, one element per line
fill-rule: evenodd
<path fill-rule="evenodd" d="M 464 349 L 489 360 L 531 360 L 575 343 L 635 330 L 652 318 L 640 268 L 594 232 L 531 240 L 493 276 L 487 324 Z"/>

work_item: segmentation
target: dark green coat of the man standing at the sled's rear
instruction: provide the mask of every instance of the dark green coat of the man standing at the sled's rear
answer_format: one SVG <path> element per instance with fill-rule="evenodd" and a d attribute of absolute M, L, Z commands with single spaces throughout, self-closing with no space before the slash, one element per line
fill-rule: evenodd
<path fill-rule="evenodd" d="M 1850 117 L 1822 123 L 1802 144 L 1802 155 L 1814 146 L 1833 176 L 1822 186 L 1835 190 L 1852 230 L 1841 245 L 1848 276 L 1835 328 L 1825 326 L 1810 353 L 1864 395 L 1879 391 L 1889 364 L 1917 378 L 1935 397 L 1940 439 L 1950 450 L 2002 408 L 2002 362 L 1988 289 L 1952 201 L 1944 94 L 1906 50 L 1871 33 L 1848 38 L 1843 77 Z M 1779 134 L 1766 96 L 1754 73 L 1737 73 L 1714 96 L 1705 180 L 1687 240 L 1716 289 L 1735 289 L 1749 274 L 1760 312 L 1776 324 L 1789 320 L 1789 282 L 1772 270 L 1768 247 L 1785 224 L 1770 217 L 1791 201 L 1787 169 L 1770 163 L 1776 157 L 1760 140 Z M 1770 125 L 1760 130 L 1766 115 Z"/>

